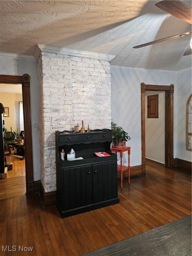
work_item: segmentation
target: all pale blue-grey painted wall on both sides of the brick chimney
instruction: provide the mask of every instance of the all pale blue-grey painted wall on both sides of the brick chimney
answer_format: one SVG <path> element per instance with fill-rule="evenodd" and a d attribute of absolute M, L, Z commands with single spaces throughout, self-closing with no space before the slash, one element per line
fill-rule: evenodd
<path fill-rule="evenodd" d="M 38 123 L 39 91 L 36 61 L 0 57 L 0 74 L 31 78 L 32 123 Z M 138 69 L 116 69 L 111 66 L 112 119 L 128 132 L 131 140 L 131 166 L 141 164 L 141 91 L 140 84 L 175 85 L 174 90 L 174 157 L 191 161 L 185 147 L 185 107 L 191 93 L 191 71 L 175 74 Z M 41 136 L 41 135 L 40 135 Z M 40 175 L 39 131 L 32 131 L 34 180 Z M 126 159 L 125 159 L 126 161 Z"/>

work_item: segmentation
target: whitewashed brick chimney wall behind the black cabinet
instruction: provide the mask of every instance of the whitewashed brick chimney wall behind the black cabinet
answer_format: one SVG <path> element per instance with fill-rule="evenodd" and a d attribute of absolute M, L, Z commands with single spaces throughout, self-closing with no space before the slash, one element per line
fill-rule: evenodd
<path fill-rule="evenodd" d="M 55 131 L 111 128 L 110 63 L 86 57 L 42 52 L 40 84 L 41 182 L 56 190 Z"/>

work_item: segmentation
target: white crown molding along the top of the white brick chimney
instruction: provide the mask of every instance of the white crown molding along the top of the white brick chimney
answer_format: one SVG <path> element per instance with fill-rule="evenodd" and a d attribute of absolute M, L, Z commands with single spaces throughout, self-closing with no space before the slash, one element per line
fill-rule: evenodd
<path fill-rule="evenodd" d="M 40 52 L 51 52 L 51 53 L 59 53 L 59 54 L 66 54 L 71 56 L 78 56 L 78 57 L 86 57 L 98 60 L 107 60 L 111 61 L 115 58 L 115 55 L 103 54 L 103 53 L 96 53 L 96 52 L 87 52 L 87 51 L 80 51 L 56 46 L 49 46 L 43 44 L 37 44 L 34 57 L 37 59 L 39 57 Z"/>

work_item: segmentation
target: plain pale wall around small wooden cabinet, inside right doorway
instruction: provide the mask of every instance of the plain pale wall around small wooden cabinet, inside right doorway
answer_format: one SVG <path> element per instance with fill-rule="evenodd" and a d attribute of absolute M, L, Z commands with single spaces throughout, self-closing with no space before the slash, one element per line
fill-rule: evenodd
<path fill-rule="evenodd" d="M 159 95 L 159 118 L 147 118 L 147 96 Z M 165 92 L 145 92 L 145 156 L 165 163 Z"/>

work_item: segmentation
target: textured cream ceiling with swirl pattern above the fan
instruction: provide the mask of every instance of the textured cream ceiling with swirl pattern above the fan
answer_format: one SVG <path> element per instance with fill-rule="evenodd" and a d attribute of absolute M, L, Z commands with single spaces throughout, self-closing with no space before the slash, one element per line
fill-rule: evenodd
<path fill-rule="evenodd" d="M 180 70 L 190 35 L 140 49 L 133 46 L 191 30 L 155 6 L 158 1 L 0 1 L 0 51 L 33 55 L 45 44 L 116 55 L 112 65 Z M 187 5 L 191 1 L 183 1 Z"/>

